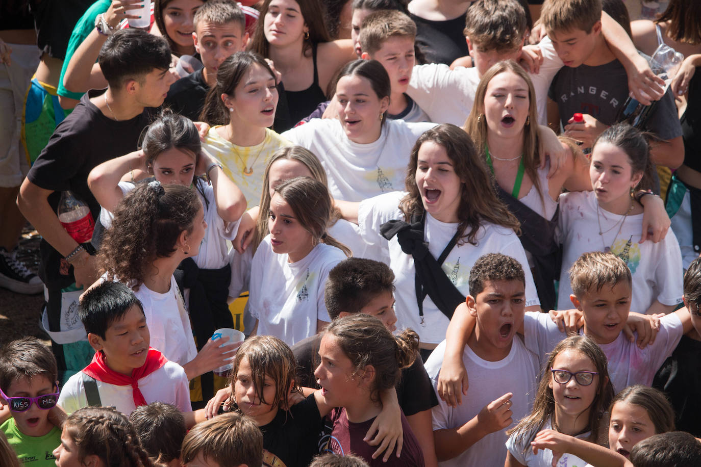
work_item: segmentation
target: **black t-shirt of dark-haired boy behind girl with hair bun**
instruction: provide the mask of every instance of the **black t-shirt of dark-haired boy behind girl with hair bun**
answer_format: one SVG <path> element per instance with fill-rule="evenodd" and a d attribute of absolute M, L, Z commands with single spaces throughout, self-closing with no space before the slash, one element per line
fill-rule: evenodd
<path fill-rule="evenodd" d="M 314 370 L 319 365 L 319 346 L 321 335 L 313 335 L 297 342 L 292 346 L 292 353 L 297 360 L 297 384 L 318 389 Z M 408 368 L 402 370 L 402 378 L 397 384 L 397 399 L 404 415 L 409 417 L 424 410 L 430 410 L 438 405 L 438 398 L 433 390 L 433 384 L 423 368 L 421 357 Z"/>

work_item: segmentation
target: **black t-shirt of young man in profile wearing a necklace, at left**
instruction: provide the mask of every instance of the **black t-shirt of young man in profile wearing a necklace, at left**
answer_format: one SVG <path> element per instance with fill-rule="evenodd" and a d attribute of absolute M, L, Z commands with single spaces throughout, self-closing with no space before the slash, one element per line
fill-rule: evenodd
<path fill-rule="evenodd" d="M 100 204 L 88 188 L 90 170 L 106 160 L 136 151 L 139 135 L 151 121 L 154 109 L 144 109 L 141 115 L 122 122 L 102 115 L 100 109 L 90 102 L 90 97 L 103 92 L 93 90 L 81 97 L 76 108 L 56 127 L 27 174 L 34 185 L 53 190 L 48 203 L 54 212 L 61 192 L 71 190 L 88 204 L 93 219 L 97 219 Z M 46 240 L 41 240 L 40 250 L 39 277 L 47 288 L 55 290 L 72 284 L 73 268 L 67 274 L 61 274 L 60 253 Z"/>

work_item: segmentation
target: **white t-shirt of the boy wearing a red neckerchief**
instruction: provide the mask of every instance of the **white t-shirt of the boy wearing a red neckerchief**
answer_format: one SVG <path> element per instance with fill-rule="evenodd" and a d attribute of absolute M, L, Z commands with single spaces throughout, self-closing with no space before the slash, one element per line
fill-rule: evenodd
<path fill-rule="evenodd" d="M 99 380 L 95 380 L 95 383 L 97 384 L 97 392 L 100 393 L 102 405 L 115 407 L 127 416 L 136 409 L 132 386 L 115 386 Z M 168 361 L 150 375 L 139 379 L 139 391 L 147 403 L 164 402 L 175 405 L 181 412 L 192 411 L 189 383 L 185 376 L 185 370 L 175 362 Z M 69 377 L 61 388 L 58 405 L 69 414 L 81 407 L 88 407 L 82 372 L 77 372 Z"/>

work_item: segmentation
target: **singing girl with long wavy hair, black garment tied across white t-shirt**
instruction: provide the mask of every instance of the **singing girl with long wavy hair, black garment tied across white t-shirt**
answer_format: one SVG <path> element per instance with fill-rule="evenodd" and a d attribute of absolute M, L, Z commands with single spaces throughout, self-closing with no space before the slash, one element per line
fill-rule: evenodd
<path fill-rule="evenodd" d="M 455 125 L 438 125 L 418 138 L 405 187 L 336 205 L 358 223 L 366 242 L 381 246 L 382 259 L 397 275 L 397 324 L 416 330 L 428 354 L 468 295 L 470 267 L 479 256 L 508 251 L 524 270 L 527 260 L 517 219 L 496 197 L 472 140 Z M 528 273 L 526 305 L 538 305 Z"/>

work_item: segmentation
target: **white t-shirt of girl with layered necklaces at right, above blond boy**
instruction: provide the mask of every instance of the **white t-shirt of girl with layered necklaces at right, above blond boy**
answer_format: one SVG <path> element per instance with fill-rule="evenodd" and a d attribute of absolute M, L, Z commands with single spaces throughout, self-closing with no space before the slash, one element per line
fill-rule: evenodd
<path fill-rule="evenodd" d="M 569 269 L 587 251 L 611 251 L 628 265 L 633 279 L 630 309 L 644 313 L 659 300 L 664 305 L 676 305 L 683 295 L 683 269 L 679 242 L 671 230 L 659 243 L 651 240 L 639 244 L 643 214 L 628 216 L 618 232 L 624 216 L 599 208 L 593 191 L 560 195 L 559 237 L 563 246 L 558 309 L 570 309 L 572 287 Z M 599 235 L 599 224 L 604 235 Z M 608 230 L 608 232 L 606 232 Z M 615 239 L 615 241 L 614 241 Z M 613 243 L 613 244 L 612 244 Z"/>

